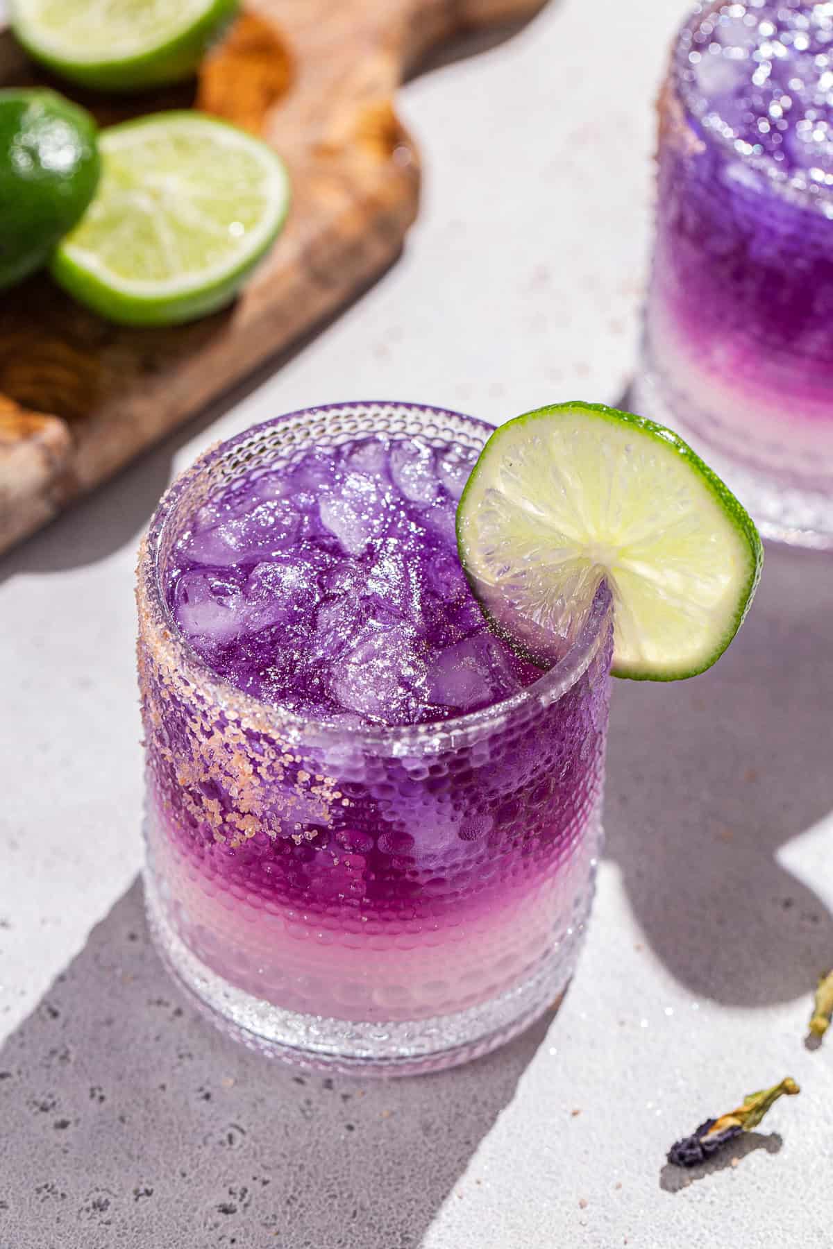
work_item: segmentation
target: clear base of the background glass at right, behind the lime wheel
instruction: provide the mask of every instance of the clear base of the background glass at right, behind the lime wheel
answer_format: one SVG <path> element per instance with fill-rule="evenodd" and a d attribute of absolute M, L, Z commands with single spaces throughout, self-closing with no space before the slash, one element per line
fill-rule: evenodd
<path fill-rule="evenodd" d="M 722 477 L 749 512 L 764 538 L 818 551 L 833 548 L 833 491 L 812 490 L 779 480 L 716 447 L 668 402 L 661 380 L 643 371 L 633 383 L 633 408 L 676 430 Z"/>

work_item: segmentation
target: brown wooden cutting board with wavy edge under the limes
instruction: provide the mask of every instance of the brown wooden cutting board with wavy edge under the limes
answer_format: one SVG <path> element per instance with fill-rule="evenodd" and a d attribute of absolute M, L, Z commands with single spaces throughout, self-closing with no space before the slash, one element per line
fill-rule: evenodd
<path fill-rule="evenodd" d="M 282 154 L 293 204 L 236 305 L 190 326 L 107 325 L 42 275 L 0 296 L 0 551 L 385 270 L 420 191 L 397 86 L 432 45 L 542 2 L 252 0 L 196 85 L 117 100 L 50 82 L 102 125 L 192 104 L 236 121 Z M 0 32 L 0 84 L 37 81 L 47 79 Z"/>

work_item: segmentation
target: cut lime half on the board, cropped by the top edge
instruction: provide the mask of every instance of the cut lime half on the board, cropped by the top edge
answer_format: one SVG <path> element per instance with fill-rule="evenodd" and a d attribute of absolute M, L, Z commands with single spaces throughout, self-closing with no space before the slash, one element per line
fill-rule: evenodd
<path fill-rule="evenodd" d="M 81 86 L 135 91 L 189 77 L 236 0 L 11 0 L 30 56 Z"/>

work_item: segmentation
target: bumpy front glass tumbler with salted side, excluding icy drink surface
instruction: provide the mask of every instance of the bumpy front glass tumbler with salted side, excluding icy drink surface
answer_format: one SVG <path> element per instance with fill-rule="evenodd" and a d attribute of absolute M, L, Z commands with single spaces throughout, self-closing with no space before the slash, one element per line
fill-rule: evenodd
<path fill-rule="evenodd" d="M 164 497 L 139 568 L 146 898 L 196 1003 L 307 1067 L 432 1070 L 486 1053 L 563 992 L 601 847 L 612 608 L 557 669 L 438 723 L 346 729 L 219 679 L 162 595 L 189 518 L 313 446 L 418 435 L 478 450 L 456 413 L 356 403 L 209 451 Z"/>

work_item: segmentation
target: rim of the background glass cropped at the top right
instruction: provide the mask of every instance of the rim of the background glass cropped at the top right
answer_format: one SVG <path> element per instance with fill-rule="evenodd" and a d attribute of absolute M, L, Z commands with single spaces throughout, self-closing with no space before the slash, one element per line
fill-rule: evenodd
<path fill-rule="evenodd" d="M 693 34 L 697 30 L 707 14 L 722 9 L 726 4 L 727 0 L 698 0 L 693 12 L 686 17 L 674 36 L 671 49 L 668 82 L 673 86 L 674 95 L 684 110 L 686 119 L 691 119 L 697 124 L 698 137 L 703 142 L 711 142 L 727 157 L 739 161 L 746 169 L 753 170 L 756 174 L 763 175 L 774 194 L 796 206 L 816 210 L 822 216 L 831 219 L 833 217 L 833 186 L 823 186 L 802 174 L 788 174 L 768 152 L 739 151 L 734 145 L 743 140 L 739 140 L 737 135 L 732 137 L 723 135 L 704 121 L 704 115 L 709 111 L 708 99 L 702 95 L 698 96 L 692 84 L 687 82 L 683 77 L 684 66 L 681 59 L 681 45 L 687 34 Z M 698 110 L 696 106 L 698 99 L 702 101 L 702 110 Z"/>

